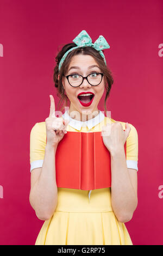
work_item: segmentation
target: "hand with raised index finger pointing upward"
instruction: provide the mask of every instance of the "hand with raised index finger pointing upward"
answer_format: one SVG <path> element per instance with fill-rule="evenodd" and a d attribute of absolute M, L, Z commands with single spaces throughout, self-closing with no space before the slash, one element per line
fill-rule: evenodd
<path fill-rule="evenodd" d="M 57 147 L 58 143 L 66 133 L 66 127 L 69 123 L 69 120 L 64 120 L 62 117 L 55 117 L 54 97 L 52 95 L 49 96 L 51 99 L 51 108 L 49 117 L 45 119 L 47 145 L 50 145 L 51 147 Z"/>

